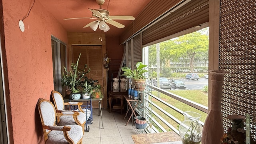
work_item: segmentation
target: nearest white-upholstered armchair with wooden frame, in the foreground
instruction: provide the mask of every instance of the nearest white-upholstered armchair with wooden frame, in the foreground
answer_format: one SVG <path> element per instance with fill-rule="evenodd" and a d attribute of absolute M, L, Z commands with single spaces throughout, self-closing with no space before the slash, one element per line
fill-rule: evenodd
<path fill-rule="evenodd" d="M 49 100 L 40 98 L 37 103 L 45 144 L 82 144 L 83 128 L 79 125 L 56 126 L 56 111 Z M 73 113 L 74 115 L 77 112 Z"/>

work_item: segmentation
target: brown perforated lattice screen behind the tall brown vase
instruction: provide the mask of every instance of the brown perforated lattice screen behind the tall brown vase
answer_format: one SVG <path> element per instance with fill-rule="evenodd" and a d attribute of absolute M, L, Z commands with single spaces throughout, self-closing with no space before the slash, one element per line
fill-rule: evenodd
<path fill-rule="evenodd" d="M 224 129 L 232 126 L 226 117 L 250 114 L 251 137 L 256 140 L 256 1 L 220 1 L 219 69 L 224 77 L 222 116 Z"/>

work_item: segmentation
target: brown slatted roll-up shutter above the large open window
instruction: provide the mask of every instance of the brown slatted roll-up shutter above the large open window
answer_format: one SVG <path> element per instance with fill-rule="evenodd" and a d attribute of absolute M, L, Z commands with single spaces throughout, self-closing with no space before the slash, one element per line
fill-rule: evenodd
<path fill-rule="evenodd" d="M 142 45 L 208 22 L 209 1 L 192 0 L 142 32 Z"/>

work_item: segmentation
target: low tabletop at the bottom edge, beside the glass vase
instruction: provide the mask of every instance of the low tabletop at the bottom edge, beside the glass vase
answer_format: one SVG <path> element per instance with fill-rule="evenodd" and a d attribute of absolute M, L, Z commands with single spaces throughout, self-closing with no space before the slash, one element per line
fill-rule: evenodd
<path fill-rule="evenodd" d="M 132 135 L 135 144 L 182 144 L 180 136 L 175 132 L 159 132 L 152 134 L 135 134 Z"/>

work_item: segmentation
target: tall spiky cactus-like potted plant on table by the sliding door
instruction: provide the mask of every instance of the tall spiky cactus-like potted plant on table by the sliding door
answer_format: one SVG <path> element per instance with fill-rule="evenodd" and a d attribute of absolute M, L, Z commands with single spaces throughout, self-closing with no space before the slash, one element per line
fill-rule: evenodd
<path fill-rule="evenodd" d="M 70 93 L 79 93 L 81 92 L 81 84 L 82 80 L 84 79 L 84 75 L 88 74 L 90 72 L 90 68 L 87 68 L 87 65 L 85 64 L 84 69 L 80 70 L 78 68 L 78 62 L 80 59 L 81 54 L 79 54 L 78 60 L 76 63 L 71 64 L 71 70 L 68 71 L 66 67 L 64 66 L 65 72 L 63 73 L 63 76 L 61 78 L 62 86 L 68 86 L 67 92 Z M 66 73 L 66 74 L 65 74 Z M 79 99 L 79 98 L 78 98 Z"/>

